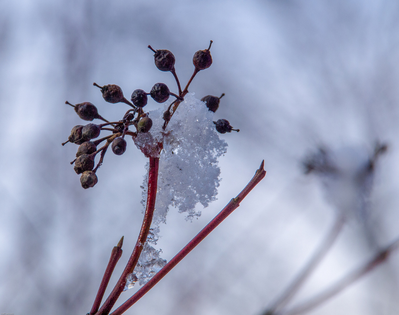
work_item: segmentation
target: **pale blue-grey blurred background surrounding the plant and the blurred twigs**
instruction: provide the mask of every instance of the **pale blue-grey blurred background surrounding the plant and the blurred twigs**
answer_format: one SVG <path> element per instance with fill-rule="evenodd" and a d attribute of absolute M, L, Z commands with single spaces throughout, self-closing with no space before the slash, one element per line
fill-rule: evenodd
<path fill-rule="evenodd" d="M 371 156 L 377 141 L 389 148 L 375 165 L 367 211 L 348 219 L 287 307 L 399 235 L 397 1 L 2 1 L 2 313 L 86 314 L 113 246 L 123 235 L 124 253 L 105 296 L 141 226 L 146 158 L 133 142 L 122 156 L 107 153 L 98 184 L 83 190 L 69 164 L 77 146 L 61 146 L 83 121 L 65 100 L 90 101 L 103 117 L 118 120 L 126 105 L 106 103 L 93 82 L 117 84 L 128 99 L 156 82 L 176 93 L 173 76 L 156 69 L 148 44 L 174 53 L 184 86 L 192 56 L 209 40 L 213 64 L 190 91 L 199 99 L 225 93 L 215 118 L 241 131 L 220 135 L 229 147 L 219 160 L 218 200 L 198 207 L 202 216 L 192 223 L 170 209 L 160 226 L 162 258 L 169 261 L 236 196 L 263 159 L 267 175 L 126 314 L 262 314 L 334 222 L 337 206 L 326 197 L 333 186 L 305 175 L 302 165 L 320 146 L 331 156 L 342 148 Z M 150 100 L 146 109 L 158 106 Z M 356 156 L 345 167 L 358 167 L 363 160 Z M 398 264 L 394 253 L 311 314 L 396 314 Z"/>

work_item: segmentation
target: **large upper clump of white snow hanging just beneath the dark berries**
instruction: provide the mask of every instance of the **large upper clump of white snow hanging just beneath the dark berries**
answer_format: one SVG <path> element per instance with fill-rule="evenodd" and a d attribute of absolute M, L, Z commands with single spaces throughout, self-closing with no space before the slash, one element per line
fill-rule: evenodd
<path fill-rule="evenodd" d="M 163 113 L 167 109 L 151 111 L 150 117 L 162 130 Z M 169 206 L 187 212 L 187 219 L 200 216 L 195 211 L 196 204 L 207 207 L 215 200 L 219 187 L 220 169 L 217 158 L 227 149 L 227 143 L 219 139 L 213 124 L 212 111 L 205 103 L 189 93 L 172 116 L 163 136 L 163 150 L 160 155 L 158 190 L 155 202 L 153 223 L 165 222 Z M 162 124 L 160 123 L 162 121 Z M 160 141 L 160 133 L 151 128 L 152 139 Z M 142 205 L 147 200 L 147 175 L 142 185 Z M 144 210 L 143 210 L 144 211 Z"/>

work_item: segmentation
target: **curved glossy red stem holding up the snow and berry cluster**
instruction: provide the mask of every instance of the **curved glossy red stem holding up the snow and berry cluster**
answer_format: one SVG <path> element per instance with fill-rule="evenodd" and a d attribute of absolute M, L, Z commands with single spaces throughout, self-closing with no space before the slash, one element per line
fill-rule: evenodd
<path fill-rule="evenodd" d="M 120 276 L 118 283 L 115 285 L 111 294 L 104 302 L 103 306 L 99 309 L 96 315 L 107 315 L 111 311 L 112 307 L 115 305 L 117 299 L 119 298 L 120 293 L 122 293 L 125 285 L 127 276 L 133 272 L 134 267 L 138 262 L 138 258 L 140 257 L 141 251 L 143 249 L 144 243 L 147 240 L 148 232 L 150 231 L 150 226 L 152 222 L 152 215 L 154 214 L 155 208 L 155 198 L 156 198 L 156 188 L 158 183 L 158 166 L 159 166 L 159 158 L 150 157 L 150 168 L 148 169 L 148 195 L 147 195 L 147 204 L 146 211 L 144 213 L 143 224 L 141 226 L 140 234 L 138 236 L 136 246 L 134 246 L 134 250 L 132 255 L 129 258 L 129 261 Z"/>

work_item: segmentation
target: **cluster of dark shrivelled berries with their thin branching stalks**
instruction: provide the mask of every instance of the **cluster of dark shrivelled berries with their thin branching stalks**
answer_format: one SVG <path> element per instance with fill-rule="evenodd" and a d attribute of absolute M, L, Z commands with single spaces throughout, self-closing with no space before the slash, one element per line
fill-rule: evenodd
<path fill-rule="evenodd" d="M 180 82 L 176 75 L 176 70 L 174 67 L 175 57 L 173 53 L 169 50 L 154 50 L 151 46 L 148 46 L 148 48 L 150 48 L 154 52 L 154 61 L 156 67 L 161 71 L 170 71 L 174 75 L 176 83 L 178 85 L 179 95 L 170 92 L 166 84 L 156 83 L 152 87 L 150 93 L 146 93 L 142 89 L 134 90 L 130 98 L 130 102 L 124 97 L 122 89 L 118 85 L 108 84 L 100 86 L 97 83 L 93 83 L 93 85 L 100 88 L 104 100 L 108 103 L 115 104 L 121 102 L 132 107 L 125 113 L 120 121 L 107 121 L 99 115 L 97 107 L 95 107 L 95 105 L 90 102 L 79 103 L 76 105 L 73 105 L 68 101 L 65 102 L 65 104 L 74 107 L 77 115 L 85 121 L 93 121 L 93 119 L 100 119 L 102 121 L 105 121 L 105 123 L 99 125 L 89 123 L 85 126 L 77 125 L 73 127 L 68 141 L 65 142 L 75 143 L 79 145 L 76 153 L 76 158 L 71 162 L 71 164 L 75 163 L 75 172 L 77 174 L 82 174 L 80 181 L 83 188 L 86 189 L 89 187 L 93 187 L 95 184 L 97 184 L 98 178 L 96 175 L 96 171 L 101 166 L 104 155 L 111 143 L 113 153 L 115 153 L 116 155 L 122 155 L 126 151 L 126 140 L 124 139 L 125 135 L 130 135 L 134 139 L 138 135 L 138 133 L 147 133 L 148 131 L 150 131 L 152 127 L 152 120 L 150 119 L 150 117 L 148 117 L 148 113 L 144 113 L 143 111 L 143 107 L 148 102 L 147 95 L 150 95 L 152 99 L 154 99 L 154 101 L 156 101 L 157 103 L 164 103 L 169 99 L 170 96 L 176 98 L 170 104 L 168 109 L 164 112 L 163 119 L 165 123 L 162 129 L 163 131 L 165 130 L 178 105 L 182 101 L 184 101 L 184 96 L 188 93 L 188 87 L 194 76 L 200 70 L 207 69 L 212 64 L 212 57 L 211 53 L 209 52 L 211 44 L 212 41 L 209 44 L 209 48 L 205 50 L 199 50 L 194 54 L 194 73 L 183 91 L 180 87 Z M 223 95 L 224 93 L 220 97 L 207 95 L 203 97 L 201 101 L 205 102 L 209 111 L 215 112 L 219 107 L 219 102 Z M 218 121 L 214 121 L 213 123 L 215 124 L 216 131 L 218 131 L 219 133 L 231 132 L 232 130 L 235 130 L 237 132 L 239 131 L 239 129 L 233 129 L 233 127 L 231 127 L 226 119 L 219 119 Z M 134 126 L 136 130 L 129 130 L 130 126 Z M 92 141 L 93 139 L 99 137 L 101 130 L 111 131 L 112 134 L 101 139 Z M 105 145 L 103 145 L 103 147 L 101 147 L 100 149 L 97 149 L 97 146 L 103 141 L 106 141 Z M 65 145 L 65 143 L 62 143 L 62 145 Z M 94 159 L 98 153 L 100 153 L 100 160 L 97 166 L 94 167 Z"/>

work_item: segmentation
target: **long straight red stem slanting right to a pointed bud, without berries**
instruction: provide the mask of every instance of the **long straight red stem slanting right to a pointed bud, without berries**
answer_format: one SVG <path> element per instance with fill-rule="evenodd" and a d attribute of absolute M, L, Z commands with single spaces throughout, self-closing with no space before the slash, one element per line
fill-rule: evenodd
<path fill-rule="evenodd" d="M 263 169 L 265 161 L 263 160 L 261 166 L 256 171 L 255 176 L 245 186 L 245 188 L 238 194 L 237 197 L 230 200 L 230 202 L 213 218 L 211 222 L 205 226 L 191 241 L 188 243 L 174 258 L 172 258 L 154 277 L 143 285 L 130 299 L 120 305 L 110 315 L 120 315 L 124 313 L 130 306 L 136 303 L 144 294 L 146 294 L 160 279 L 162 279 L 174 266 L 176 266 L 194 247 L 196 247 L 214 228 L 216 228 L 231 212 L 238 208 L 240 202 L 249 194 L 249 192 L 265 177 L 266 171 Z"/>

